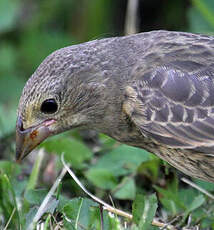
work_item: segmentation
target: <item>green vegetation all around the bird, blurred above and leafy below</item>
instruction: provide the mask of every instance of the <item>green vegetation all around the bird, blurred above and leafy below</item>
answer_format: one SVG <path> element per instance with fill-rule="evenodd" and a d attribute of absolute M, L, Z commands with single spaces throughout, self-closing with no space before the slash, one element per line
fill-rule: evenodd
<path fill-rule="evenodd" d="M 168 224 L 165 229 L 214 229 L 212 196 L 184 183 L 154 155 L 103 134 L 74 130 L 48 139 L 21 165 L 14 162 L 16 108 L 27 78 L 58 48 L 123 35 L 126 4 L 0 1 L 0 229 L 159 229 L 152 220 Z M 214 32 L 213 0 L 139 1 L 138 13 L 139 31 Z M 92 194 L 132 213 L 133 220 L 103 209 L 69 174 L 61 175 L 42 207 L 64 168 L 62 153 Z M 213 184 L 193 182 L 214 192 Z"/>

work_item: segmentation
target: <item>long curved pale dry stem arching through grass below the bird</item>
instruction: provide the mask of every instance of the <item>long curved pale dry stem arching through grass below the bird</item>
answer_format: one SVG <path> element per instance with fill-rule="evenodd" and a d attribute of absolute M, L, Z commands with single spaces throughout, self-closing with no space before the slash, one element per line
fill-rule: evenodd
<path fill-rule="evenodd" d="M 114 213 L 115 215 L 119 215 L 119 216 L 123 216 L 129 220 L 132 220 L 132 215 L 130 213 L 124 212 L 120 209 L 114 208 L 111 205 L 107 204 L 105 201 L 101 200 L 100 198 L 94 196 L 91 192 L 89 192 L 84 185 L 79 181 L 79 179 L 77 178 L 77 176 L 74 174 L 74 172 L 69 168 L 69 166 L 65 163 L 64 160 L 64 154 L 61 155 L 61 161 L 64 165 L 64 167 L 66 168 L 66 170 L 68 171 L 68 173 L 71 175 L 71 177 L 73 178 L 73 180 L 79 185 L 79 187 L 94 201 L 96 201 L 97 203 L 103 205 L 103 209 L 107 210 L 108 212 Z M 152 225 L 157 226 L 157 227 L 165 227 L 169 230 L 176 230 L 176 228 L 172 225 L 167 225 L 165 223 L 161 223 L 158 220 L 154 219 L 152 221 Z"/>

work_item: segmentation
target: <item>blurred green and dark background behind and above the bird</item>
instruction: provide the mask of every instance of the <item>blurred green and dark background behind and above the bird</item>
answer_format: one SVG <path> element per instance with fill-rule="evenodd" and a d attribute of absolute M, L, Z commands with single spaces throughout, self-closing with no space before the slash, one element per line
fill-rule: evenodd
<path fill-rule="evenodd" d="M 21 90 L 41 61 L 61 47 L 124 35 L 126 8 L 125 0 L 0 1 L 0 157 Z M 212 33 L 213 9 L 212 0 L 139 1 L 138 31 Z"/>

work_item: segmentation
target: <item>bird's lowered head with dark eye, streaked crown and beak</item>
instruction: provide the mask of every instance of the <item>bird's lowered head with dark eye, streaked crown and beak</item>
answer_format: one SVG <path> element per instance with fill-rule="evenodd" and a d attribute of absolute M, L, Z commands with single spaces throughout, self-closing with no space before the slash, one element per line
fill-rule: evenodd
<path fill-rule="evenodd" d="M 27 81 L 16 124 L 18 161 L 47 137 L 74 127 L 89 127 L 102 116 L 104 105 L 97 106 L 105 87 L 98 79 L 101 73 L 91 68 L 93 63 L 87 63 L 84 49 L 78 49 L 54 52 Z"/>

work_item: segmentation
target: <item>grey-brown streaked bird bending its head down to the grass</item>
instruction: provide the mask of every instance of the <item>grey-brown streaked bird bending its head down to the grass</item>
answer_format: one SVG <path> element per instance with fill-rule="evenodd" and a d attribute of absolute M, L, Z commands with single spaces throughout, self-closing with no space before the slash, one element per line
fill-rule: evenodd
<path fill-rule="evenodd" d="M 214 182 L 214 36 L 157 30 L 54 51 L 20 97 L 17 161 L 77 127 Z"/>

